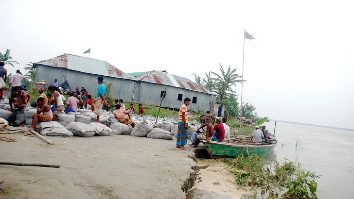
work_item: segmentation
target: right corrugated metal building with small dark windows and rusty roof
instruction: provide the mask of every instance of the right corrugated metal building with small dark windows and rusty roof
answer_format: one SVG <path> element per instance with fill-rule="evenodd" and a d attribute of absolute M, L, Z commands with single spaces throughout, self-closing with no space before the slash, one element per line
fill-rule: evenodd
<path fill-rule="evenodd" d="M 214 110 L 215 94 L 187 78 L 154 70 L 139 75 L 135 79 L 142 81 L 140 84 L 141 103 L 159 106 L 163 91 L 167 86 L 162 107 L 179 109 L 184 99 L 188 97 L 192 99 L 188 106 L 189 110 L 196 111 L 197 108 L 204 112 Z"/>

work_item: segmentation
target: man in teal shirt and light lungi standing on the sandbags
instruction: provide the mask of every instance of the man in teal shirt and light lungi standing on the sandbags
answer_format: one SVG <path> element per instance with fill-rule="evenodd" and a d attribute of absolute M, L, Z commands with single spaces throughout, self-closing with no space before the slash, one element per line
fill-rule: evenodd
<path fill-rule="evenodd" d="M 96 95 L 96 98 L 92 100 L 91 110 L 93 109 L 92 111 L 95 111 L 95 114 L 97 116 L 97 119 L 95 122 L 100 122 L 100 116 L 101 116 L 101 112 L 102 112 L 103 103 L 105 103 L 107 105 L 108 102 L 106 100 L 106 86 L 105 86 L 105 84 L 103 84 L 103 77 L 101 77 L 101 76 L 98 77 L 97 83 L 98 83 L 97 95 Z"/>

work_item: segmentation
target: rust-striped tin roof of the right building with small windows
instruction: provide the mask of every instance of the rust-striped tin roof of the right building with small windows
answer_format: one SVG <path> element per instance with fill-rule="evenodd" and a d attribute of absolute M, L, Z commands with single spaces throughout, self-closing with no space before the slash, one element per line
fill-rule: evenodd
<path fill-rule="evenodd" d="M 144 73 L 142 75 L 139 75 L 139 76 L 135 77 L 135 79 L 141 80 L 143 82 L 158 83 L 158 84 L 162 84 L 162 85 L 175 86 L 175 87 L 179 87 L 179 88 L 184 88 L 184 89 L 188 89 L 188 90 L 193 90 L 193 91 L 197 91 L 197 92 L 215 95 L 211 91 L 188 80 L 187 78 L 179 77 L 177 75 L 172 75 L 167 72 L 153 70 L 148 73 Z"/>

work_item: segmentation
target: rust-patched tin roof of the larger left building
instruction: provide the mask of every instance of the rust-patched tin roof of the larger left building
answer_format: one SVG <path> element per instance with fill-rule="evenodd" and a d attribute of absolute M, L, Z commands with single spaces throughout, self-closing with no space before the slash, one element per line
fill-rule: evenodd
<path fill-rule="evenodd" d="M 135 80 L 108 62 L 66 53 L 52 59 L 36 62 L 33 66 L 36 67 L 37 65 L 61 67 L 90 74 Z"/>

